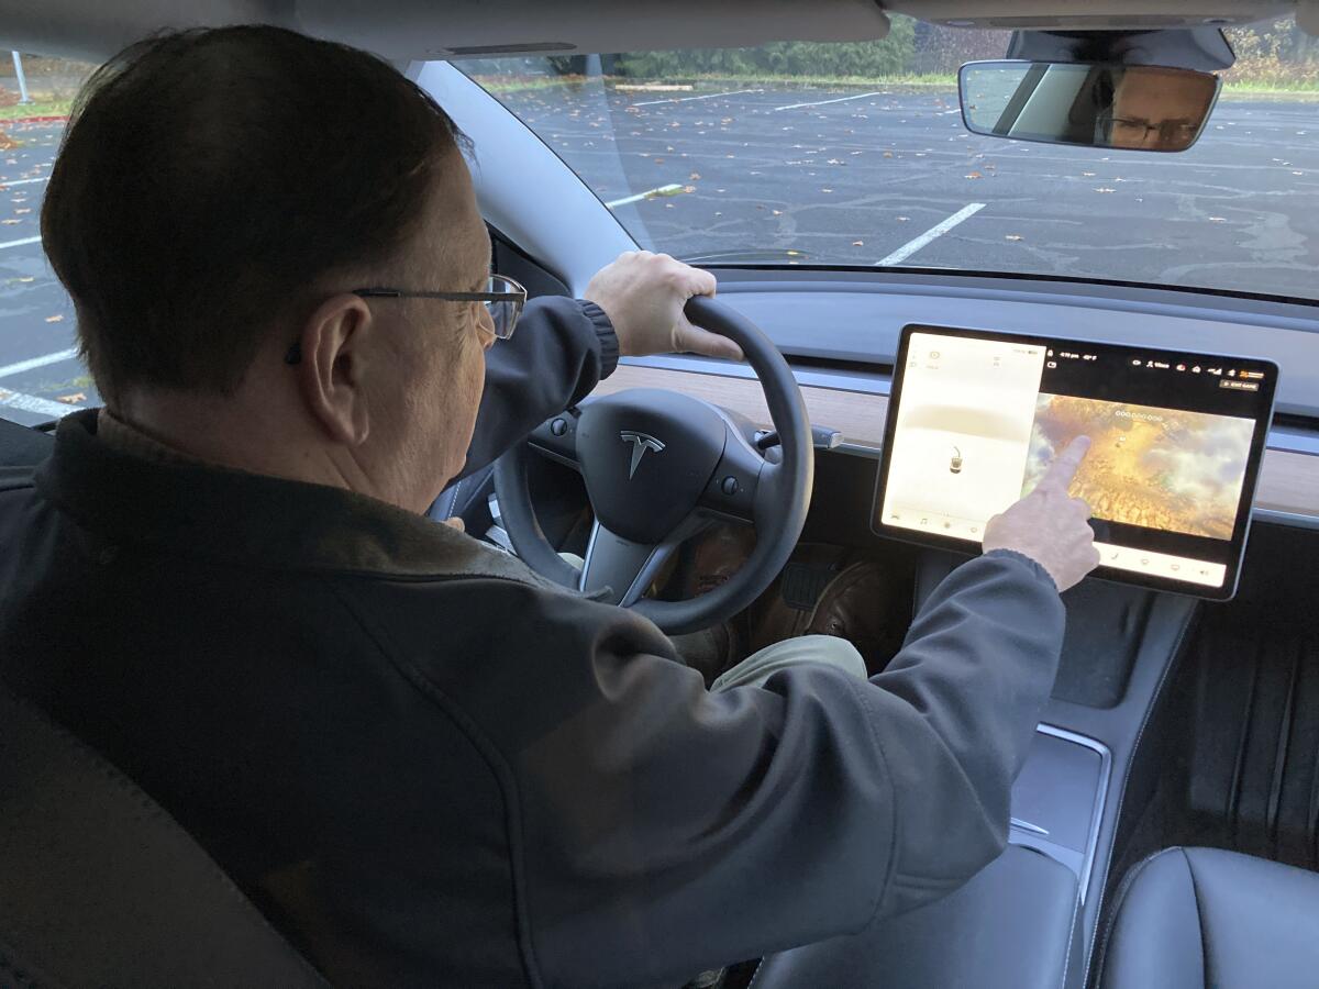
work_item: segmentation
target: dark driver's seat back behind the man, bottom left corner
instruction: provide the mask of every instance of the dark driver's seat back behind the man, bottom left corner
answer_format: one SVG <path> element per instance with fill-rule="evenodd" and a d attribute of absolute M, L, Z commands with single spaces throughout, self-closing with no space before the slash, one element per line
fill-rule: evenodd
<path fill-rule="evenodd" d="M 328 982 L 160 806 L 0 686 L 0 985 Z"/>

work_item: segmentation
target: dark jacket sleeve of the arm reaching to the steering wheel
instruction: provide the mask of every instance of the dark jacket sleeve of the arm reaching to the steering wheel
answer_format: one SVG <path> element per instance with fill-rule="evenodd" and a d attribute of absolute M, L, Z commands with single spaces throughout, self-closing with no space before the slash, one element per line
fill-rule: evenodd
<path fill-rule="evenodd" d="M 617 363 L 619 338 L 594 302 L 562 295 L 528 302 L 517 332 L 485 355 L 485 392 L 462 476 L 582 401 Z"/>

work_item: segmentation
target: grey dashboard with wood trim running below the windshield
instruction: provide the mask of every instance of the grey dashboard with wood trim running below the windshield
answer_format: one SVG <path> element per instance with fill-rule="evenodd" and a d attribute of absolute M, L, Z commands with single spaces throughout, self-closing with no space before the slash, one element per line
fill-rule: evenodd
<path fill-rule="evenodd" d="M 1257 355 L 1282 371 L 1260 462 L 1254 518 L 1319 529 L 1319 307 L 1314 305 L 954 272 L 716 268 L 716 274 L 720 301 L 752 319 L 789 357 L 811 422 L 840 434 L 835 452 L 872 464 L 884 448 L 892 371 L 907 324 Z M 769 423 L 760 384 L 743 364 L 689 355 L 625 359 L 598 393 L 625 388 L 671 388 L 757 425 Z M 876 465 L 868 468 L 872 479 Z"/>

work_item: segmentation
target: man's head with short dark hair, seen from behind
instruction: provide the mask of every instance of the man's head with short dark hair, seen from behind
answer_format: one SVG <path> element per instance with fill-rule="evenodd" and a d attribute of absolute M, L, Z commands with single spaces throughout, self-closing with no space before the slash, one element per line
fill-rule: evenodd
<path fill-rule="evenodd" d="M 42 208 L 111 410 L 207 459 L 425 508 L 462 465 L 493 338 L 479 305 L 352 290 L 479 287 L 463 141 L 389 65 L 277 28 L 112 59 Z"/>

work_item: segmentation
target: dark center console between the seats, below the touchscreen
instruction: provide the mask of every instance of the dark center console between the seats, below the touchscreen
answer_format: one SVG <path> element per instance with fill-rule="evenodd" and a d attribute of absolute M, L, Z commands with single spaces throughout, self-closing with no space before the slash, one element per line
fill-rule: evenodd
<path fill-rule="evenodd" d="M 915 608 L 967 559 L 923 550 Z M 752 986 L 1084 989 L 1122 806 L 1153 786 L 1137 748 L 1198 601 L 1091 579 L 1063 603 L 1058 678 L 1013 785 L 1006 851 L 939 901 L 766 957 Z"/>

